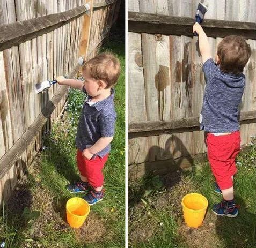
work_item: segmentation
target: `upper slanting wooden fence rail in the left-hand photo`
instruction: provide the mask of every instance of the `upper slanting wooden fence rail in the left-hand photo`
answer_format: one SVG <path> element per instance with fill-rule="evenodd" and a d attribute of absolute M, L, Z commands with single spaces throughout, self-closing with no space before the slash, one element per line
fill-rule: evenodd
<path fill-rule="evenodd" d="M 57 14 L 0 25 L 0 51 L 68 24 L 87 11 L 84 5 Z"/>

